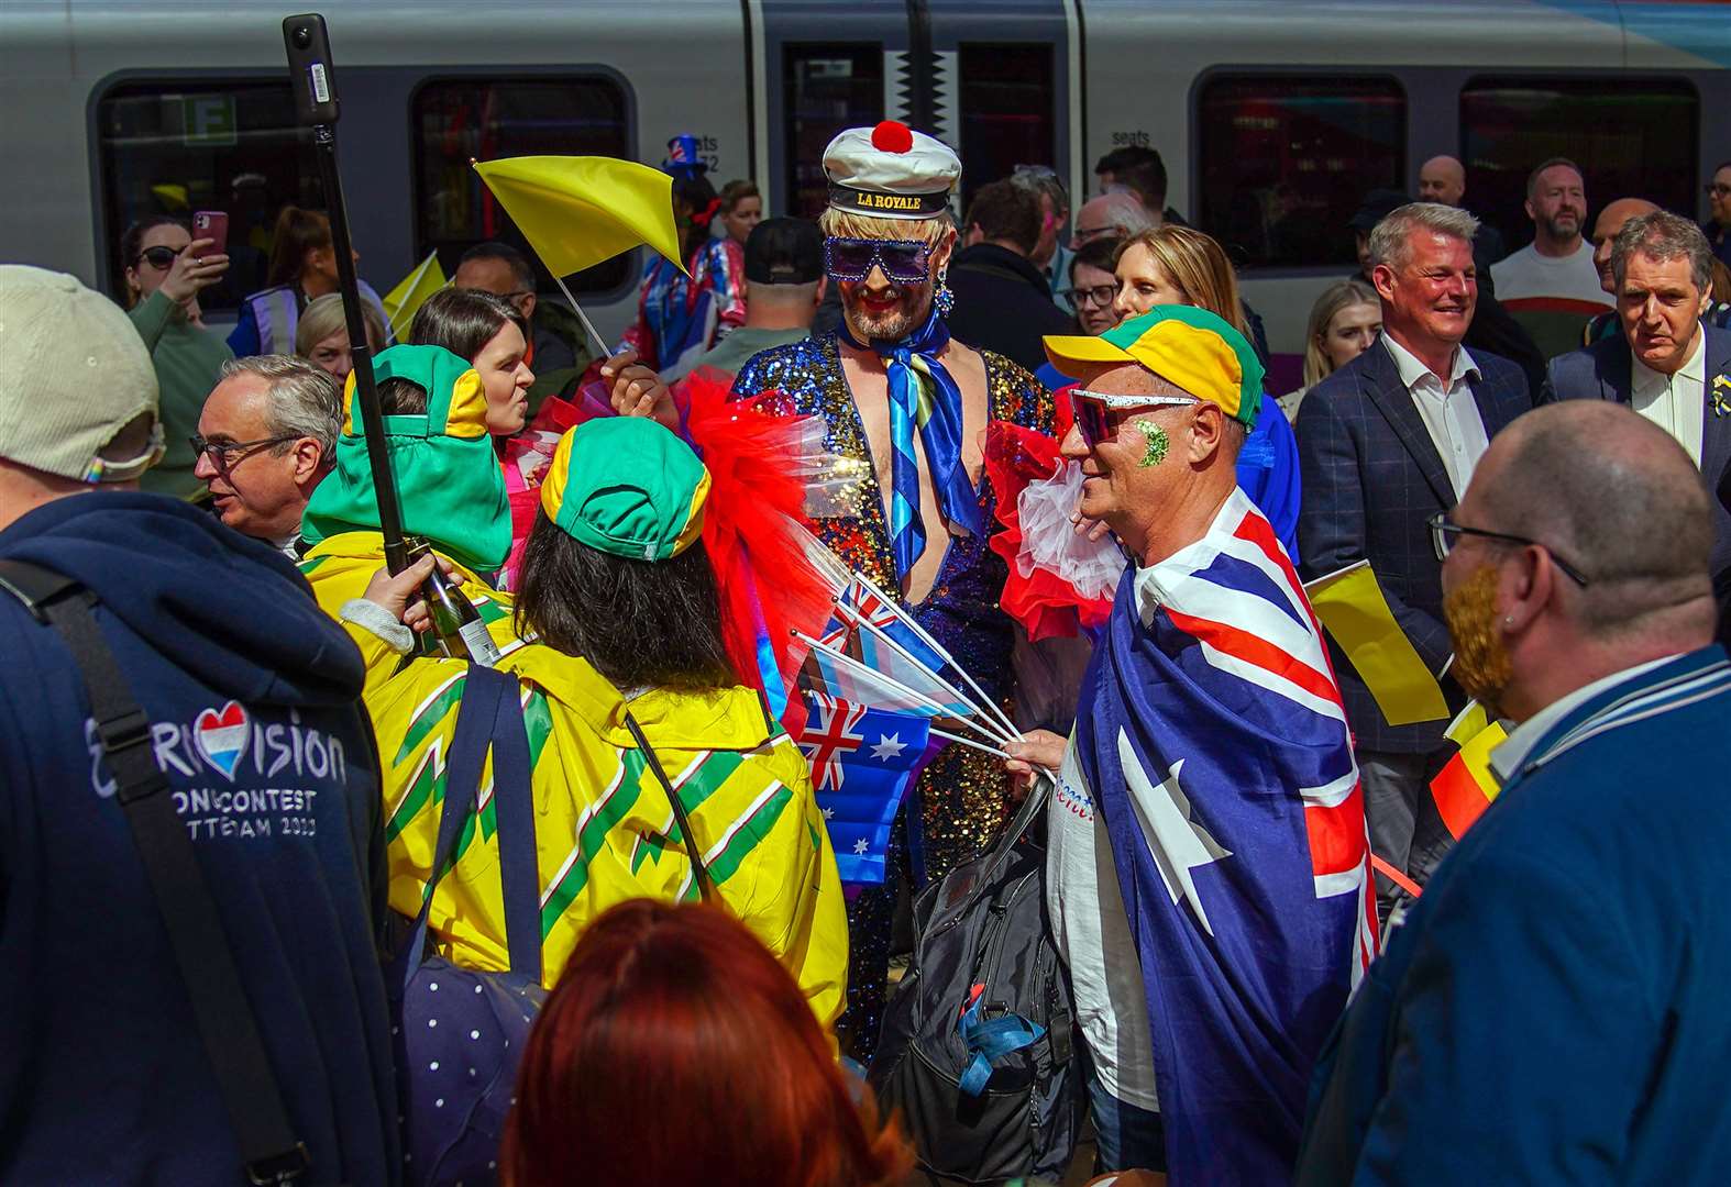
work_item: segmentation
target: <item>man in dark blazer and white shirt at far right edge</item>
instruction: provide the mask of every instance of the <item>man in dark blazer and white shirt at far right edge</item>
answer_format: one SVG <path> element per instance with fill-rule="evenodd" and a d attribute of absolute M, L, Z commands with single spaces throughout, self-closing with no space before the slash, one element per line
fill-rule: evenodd
<path fill-rule="evenodd" d="M 1622 332 L 1553 358 L 1539 395 L 1631 405 L 1677 440 L 1708 488 L 1731 467 L 1731 330 L 1702 320 L 1712 265 L 1707 235 L 1688 218 L 1631 218 L 1612 244 Z M 1731 611 L 1731 507 L 1717 498 L 1710 566 Z"/>

